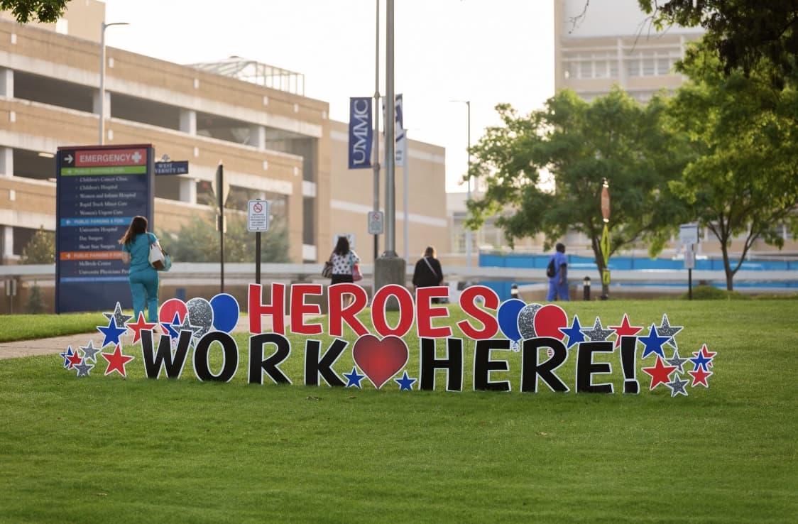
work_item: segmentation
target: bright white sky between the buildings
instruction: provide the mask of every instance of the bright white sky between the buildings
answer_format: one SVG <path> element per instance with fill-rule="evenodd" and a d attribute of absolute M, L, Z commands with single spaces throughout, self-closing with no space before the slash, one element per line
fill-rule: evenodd
<path fill-rule="evenodd" d="M 105 0 L 110 47 L 189 64 L 245 57 L 305 75 L 305 95 L 349 119 L 349 98 L 374 93 L 376 0 Z M 446 148 L 447 191 L 471 140 L 498 124 L 494 106 L 540 108 L 554 93 L 552 0 L 396 0 L 394 89 L 408 136 Z M 380 1 L 380 93 L 385 95 Z M 382 118 L 381 118 L 382 120 Z M 383 147 L 381 146 L 381 150 Z M 370 173 L 371 171 L 369 171 Z M 370 175 L 369 175 L 370 180 Z"/>

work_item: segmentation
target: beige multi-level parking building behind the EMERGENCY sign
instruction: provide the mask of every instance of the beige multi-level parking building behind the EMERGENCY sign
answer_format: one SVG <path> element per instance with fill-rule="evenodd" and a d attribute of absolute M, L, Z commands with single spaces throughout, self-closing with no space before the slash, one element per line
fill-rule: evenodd
<path fill-rule="evenodd" d="M 285 221 L 290 262 L 326 260 L 336 234 L 353 235 L 363 261 L 373 262 L 373 171 L 348 169 L 348 124 L 330 120 L 327 101 L 304 96 L 301 73 L 238 57 L 178 65 L 106 47 L 101 100 L 104 20 L 96 0 L 70 2 L 56 24 L 0 15 L 0 263 L 18 263 L 40 227 L 55 229 L 53 153 L 99 144 L 103 106 L 105 145 L 152 144 L 156 160 L 188 160 L 187 175 L 156 177 L 156 232 L 213 212 L 203 192 L 221 161 L 232 201 L 267 199 Z M 411 140 L 409 152 L 413 198 L 405 217 L 397 167 L 395 227 L 401 255 L 408 220 L 414 260 L 429 244 L 447 251 L 449 228 L 444 149 Z M 384 179 L 383 170 L 381 206 Z"/>

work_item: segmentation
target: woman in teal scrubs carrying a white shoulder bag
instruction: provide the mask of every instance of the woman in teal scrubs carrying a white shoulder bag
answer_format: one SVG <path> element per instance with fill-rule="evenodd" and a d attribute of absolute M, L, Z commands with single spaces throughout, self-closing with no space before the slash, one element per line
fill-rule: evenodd
<path fill-rule="evenodd" d="M 133 296 L 133 318 L 147 305 L 147 321 L 158 321 L 158 272 L 149 263 L 150 244 L 158 244 L 158 238 L 147 231 L 147 219 L 134 216 L 128 230 L 120 238 L 122 262 L 130 264 L 128 282 Z M 158 244 L 160 247 L 160 244 Z"/>

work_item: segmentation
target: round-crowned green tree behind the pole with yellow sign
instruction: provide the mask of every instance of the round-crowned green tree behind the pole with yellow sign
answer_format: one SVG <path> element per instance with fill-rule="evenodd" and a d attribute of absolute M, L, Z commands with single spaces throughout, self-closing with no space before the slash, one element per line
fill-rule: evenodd
<path fill-rule="evenodd" d="M 511 245 L 543 233 L 546 250 L 578 230 L 591 239 L 602 274 L 604 181 L 612 202 L 610 254 L 653 238 L 668 219 L 670 208 L 658 203 L 670 199 L 666 181 L 681 172 L 683 161 L 676 137 L 660 125 L 665 108 L 661 97 L 643 105 L 617 88 L 590 103 L 563 90 L 528 116 L 497 105 L 504 125 L 488 128 L 471 150 L 470 175 L 483 178 L 487 191 L 468 203 L 468 227 L 504 210 L 496 224 Z M 544 171 L 553 176 L 554 191 L 542 184 Z M 661 249 L 662 242 L 652 246 Z"/>

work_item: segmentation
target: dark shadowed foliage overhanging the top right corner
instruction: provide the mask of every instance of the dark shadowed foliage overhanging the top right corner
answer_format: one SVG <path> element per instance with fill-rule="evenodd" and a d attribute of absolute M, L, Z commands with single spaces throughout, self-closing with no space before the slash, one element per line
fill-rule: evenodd
<path fill-rule="evenodd" d="M 725 73 L 738 67 L 748 75 L 768 62 L 769 80 L 781 87 L 795 77 L 798 54 L 796 0 L 638 0 L 659 28 L 702 26 L 705 41 L 715 49 Z"/>

